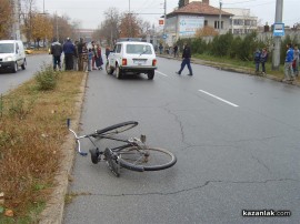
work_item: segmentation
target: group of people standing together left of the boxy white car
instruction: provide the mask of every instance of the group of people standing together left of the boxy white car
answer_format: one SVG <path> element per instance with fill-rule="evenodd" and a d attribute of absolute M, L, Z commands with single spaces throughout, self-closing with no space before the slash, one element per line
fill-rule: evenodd
<path fill-rule="evenodd" d="M 53 55 L 53 69 L 61 70 L 61 54 L 64 53 L 66 71 L 91 71 L 102 70 L 102 54 L 100 44 L 91 42 L 90 48 L 88 43 L 83 42 L 80 38 L 74 43 L 70 38 L 67 38 L 66 42 L 61 44 L 57 39 L 53 40 L 50 49 L 50 53 Z"/>

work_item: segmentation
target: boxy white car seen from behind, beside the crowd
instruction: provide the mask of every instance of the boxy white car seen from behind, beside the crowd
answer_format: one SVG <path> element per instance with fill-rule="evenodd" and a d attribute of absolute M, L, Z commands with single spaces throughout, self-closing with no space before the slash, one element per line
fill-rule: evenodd
<path fill-rule="evenodd" d="M 110 52 L 106 65 L 108 74 L 116 71 L 116 77 L 122 79 L 129 74 L 146 73 L 149 80 L 154 78 L 157 57 L 153 45 L 148 42 L 120 41 Z"/>

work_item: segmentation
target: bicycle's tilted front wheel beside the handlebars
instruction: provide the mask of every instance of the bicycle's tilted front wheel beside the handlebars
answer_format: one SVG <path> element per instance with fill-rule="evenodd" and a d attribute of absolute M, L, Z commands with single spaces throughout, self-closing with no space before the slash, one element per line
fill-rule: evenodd
<path fill-rule="evenodd" d="M 118 123 L 118 124 L 114 124 L 111 126 L 107 126 L 106 129 L 96 130 L 96 133 L 93 133 L 91 135 L 97 136 L 97 135 L 101 135 L 101 134 L 106 134 L 106 135 L 119 134 L 119 133 L 122 133 L 122 132 L 128 131 L 130 129 L 133 129 L 138 124 L 139 124 L 139 122 L 137 122 L 137 121 L 127 121 L 127 122 Z"/>

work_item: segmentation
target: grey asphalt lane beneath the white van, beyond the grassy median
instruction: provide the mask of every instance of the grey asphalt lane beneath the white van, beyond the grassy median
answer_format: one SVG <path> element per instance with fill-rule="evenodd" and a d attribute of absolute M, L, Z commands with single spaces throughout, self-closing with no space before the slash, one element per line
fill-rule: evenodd
<path fill-rule="evenodd" d="M 24 81 L 30 80 L 41 69 L 43 63 L 51 63 L 51 58 L 52 55 L 49 54 L 27 55 L 26 70 L 19 68 L 17 73 L 4 70 L 0 71 L 0 94 L 7 93 Z"/>

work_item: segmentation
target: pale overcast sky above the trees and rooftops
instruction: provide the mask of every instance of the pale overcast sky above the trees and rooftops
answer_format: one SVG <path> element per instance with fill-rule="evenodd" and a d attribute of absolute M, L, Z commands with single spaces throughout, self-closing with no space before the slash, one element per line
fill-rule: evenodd
<path fill-rule="evenodd" d="M 179 0 L 167 0 L 167 13 L 178 7 Z M 223 8 L 246 8 L 260 20 L 261 24 L 274 22 L 277 0 L 222 0 Z M 283 23 L 293 26 L 300 22 L 300 1 L 283 1 Z M 96 29 L 104 20 L 103 12 L 113 7 L 119 12 L 140 13 L 139 17 L 151 24 L 158 26 L 160 16 L 163 14 L 164 0 L 36 0 L 37 8 L 59 16 L 68 14 L 72 20 L 80 21 L 82 28 Z M 210 0 L 210 6 L 219 8 L 219 0 Z M 151 14 L 152 13 L 152 14 Z M 160 13 L 160 14 L 154 14 Z"/>

